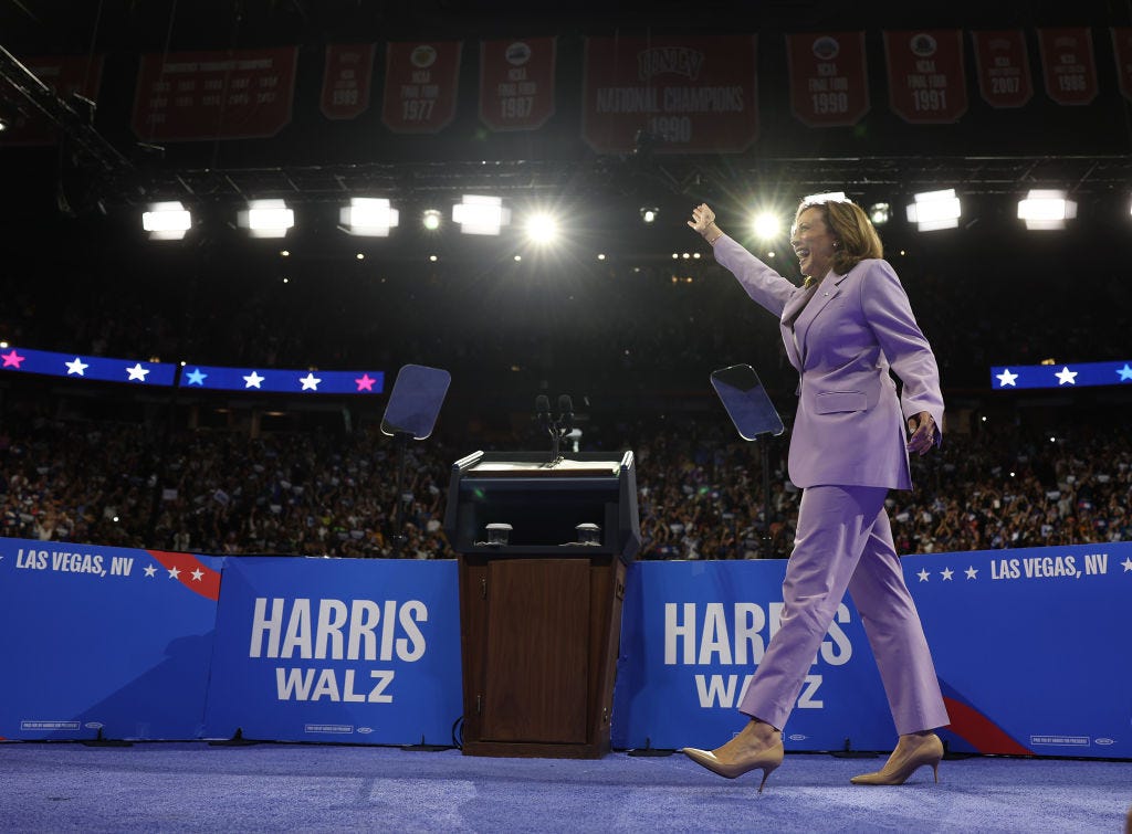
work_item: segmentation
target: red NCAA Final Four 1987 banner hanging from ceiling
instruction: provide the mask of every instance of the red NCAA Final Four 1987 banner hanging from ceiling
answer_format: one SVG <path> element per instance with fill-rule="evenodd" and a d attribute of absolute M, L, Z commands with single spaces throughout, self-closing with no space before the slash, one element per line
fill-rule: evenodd
<path fill-rule="evenodd" d="M 555 114 L 554 37 L 480 44 L 480 120 L 492 130 L 534 130 Z"/>

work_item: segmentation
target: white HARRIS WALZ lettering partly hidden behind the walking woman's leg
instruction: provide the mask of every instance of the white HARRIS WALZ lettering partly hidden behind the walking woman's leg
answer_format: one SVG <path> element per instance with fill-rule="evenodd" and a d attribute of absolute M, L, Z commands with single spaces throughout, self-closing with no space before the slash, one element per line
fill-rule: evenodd
<path fill-rule="evenodd" d="M 766 645 L 782 625 L 783 603 L 772 602 L 764 609 L 753 602 L 737 602 L 731 611 L 722 602 L 697 605 L 694 602 L 664 603 L 664 665 L 752 667 L 763 660 Z M 730 613 L 730 617 L 728 616 Z M 852 644 L 839 624 L 849 621 L 849 609 L 842 603 L 822 640 L 813 664 L 824 661 L 840 667 L 852 657 Z M 754 673 L 696 674 L 700 706 L 735 707 L 751 686 Z M 803 710 L 825 706 L 818 697 L 821 674 L 807 674 L 798 696 Z"/>

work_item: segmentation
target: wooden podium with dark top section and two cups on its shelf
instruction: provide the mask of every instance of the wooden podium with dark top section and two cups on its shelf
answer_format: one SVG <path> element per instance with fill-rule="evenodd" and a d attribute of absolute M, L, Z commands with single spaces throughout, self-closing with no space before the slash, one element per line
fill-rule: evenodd
<path fill-rule="evenodd" d="M 609 751 L 625 565 L 641 547 L 633 453 L 475 453 L 453 466 L 468 756 Z M 488 524 L 509 524 L 506 544 Z M 578 541 L 597 524 L 595 543 Z"/>

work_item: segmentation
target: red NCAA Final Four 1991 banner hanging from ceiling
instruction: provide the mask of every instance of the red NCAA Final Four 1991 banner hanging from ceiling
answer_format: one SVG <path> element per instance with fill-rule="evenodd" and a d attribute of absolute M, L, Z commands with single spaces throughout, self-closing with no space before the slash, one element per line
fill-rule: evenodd
<path fill-rule="evenodd" d="M 967 112 L 963 41 L 959 29 L 885 32 L 889 102 L 915 124 L 959 121 Z"/>

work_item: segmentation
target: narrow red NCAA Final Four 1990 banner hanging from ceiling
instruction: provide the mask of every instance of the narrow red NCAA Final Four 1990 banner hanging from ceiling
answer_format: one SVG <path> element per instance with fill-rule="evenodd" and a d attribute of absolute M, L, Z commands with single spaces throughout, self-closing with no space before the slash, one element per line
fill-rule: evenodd
<path fill-rule="evenodd" d="M 865 33 L 787 35 L 790 110 L 812 128 L 856 124 L 868 112 Z"/>

